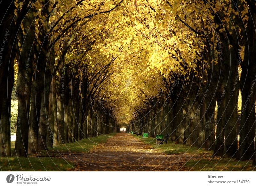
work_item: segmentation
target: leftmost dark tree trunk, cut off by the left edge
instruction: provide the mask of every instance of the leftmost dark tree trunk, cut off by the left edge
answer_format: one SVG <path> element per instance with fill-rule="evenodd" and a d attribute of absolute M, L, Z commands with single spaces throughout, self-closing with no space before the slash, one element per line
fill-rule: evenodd
<path fill-rule="evenodd" d="M 14 1 L 1 1 L 0 6 L 0 156 L 11 156 L 11 93 L 14 83 L 13 62 L 17 49 L 14 23 Z M 24 15 L 20 15 L 23 16 Z M 20 24 L 19 20 L 16 20 Z"/>

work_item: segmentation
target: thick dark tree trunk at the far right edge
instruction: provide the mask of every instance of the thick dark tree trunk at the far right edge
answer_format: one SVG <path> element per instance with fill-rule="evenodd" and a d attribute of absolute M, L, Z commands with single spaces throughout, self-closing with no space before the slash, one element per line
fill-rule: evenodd
<path fill-rule="evenodd" d="M 240 140 L 237 159 L 252 159 L 255 154 L 255 97 L 256 97 L 256 33 L 254 24 L 256 22 L 256 12 L 252 11 L 249 16 L 246 28 L 248 39 L 244 48 L 244 61 L 241 74 L 241 125 Z"/>

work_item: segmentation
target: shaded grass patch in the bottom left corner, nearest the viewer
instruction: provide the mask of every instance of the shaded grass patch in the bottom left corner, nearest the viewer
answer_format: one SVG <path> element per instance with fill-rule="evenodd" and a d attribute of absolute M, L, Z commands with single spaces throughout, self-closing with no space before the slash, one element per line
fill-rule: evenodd
<path fill-rule="evenodd" d="M 1 158 L 0 171 L 70 171 L 74 164 L 59 158 Z"/>

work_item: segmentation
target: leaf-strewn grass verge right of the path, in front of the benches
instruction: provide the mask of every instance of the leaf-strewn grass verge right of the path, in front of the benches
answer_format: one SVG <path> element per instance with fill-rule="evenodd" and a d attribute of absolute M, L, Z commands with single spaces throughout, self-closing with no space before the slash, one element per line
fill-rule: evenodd
<path fill-rule="evenodd" d="M 237 161 L 230 158 L 212 157 L 212 151 L 203 148 L 185 146 L 168 141 L 168 144 L 156 145 L 155 138 L 142 139 L 145 144 L 151 145 L 157 152 L 166 155 L 181 155 L 184 157 L 184 167 L 189 171 L 256 171 L 252 161 Z"/>

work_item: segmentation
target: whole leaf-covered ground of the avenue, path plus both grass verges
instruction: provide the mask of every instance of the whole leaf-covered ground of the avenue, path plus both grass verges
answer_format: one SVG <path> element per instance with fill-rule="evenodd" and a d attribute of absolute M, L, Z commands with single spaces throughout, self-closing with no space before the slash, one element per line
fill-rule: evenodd
<path fill-rule="evenodd" d="M 253 171 L 249 162 L 169 142 L 155 145 L 131 133 L 111 133 L 55 147 L 29 158 L 0 161 L 3 171 Z"/>

